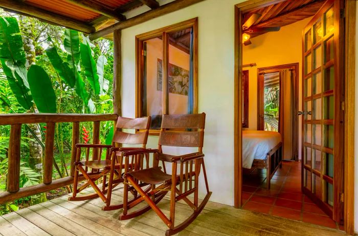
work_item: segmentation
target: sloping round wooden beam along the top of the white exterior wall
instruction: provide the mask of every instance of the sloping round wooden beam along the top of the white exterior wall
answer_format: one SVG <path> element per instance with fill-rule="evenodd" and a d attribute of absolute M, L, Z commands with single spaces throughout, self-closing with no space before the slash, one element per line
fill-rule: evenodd
<path fill-rule="evenodd" d="M 132 27 L 133 25 L 143 23 L 150 19 L 153 19 L 153 18 L 156 18 L 159 16 L 163 16 L 170 12 L 174 12 L 179 9 L 186 8 L 188 6 L 191 6 L 193 4 L 196 4 L 196 3 L 199 3 L 202 1 L 204 1 L 204 0 L 176 0 L 174 2 L 162 5 L 157 9 L 144 12 L 138 16 L 129 18 L 127 20 L 120 21 L 118 23 L 111 25 L 110 27 L 104 28 L 103 30 L 100 30 L 93 34 L 90 34 L 89 39 L 91 39 L 91 40 L 98 39 L 100 37 L 106 36 L 106 35 L 114 32 L 115 30 L 123 30 L 123 29 L 129 28 L 129 27 Z"/>

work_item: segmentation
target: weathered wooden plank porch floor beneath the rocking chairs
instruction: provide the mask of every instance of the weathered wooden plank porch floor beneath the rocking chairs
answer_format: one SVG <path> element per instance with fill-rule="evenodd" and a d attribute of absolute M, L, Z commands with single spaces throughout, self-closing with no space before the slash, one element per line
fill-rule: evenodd
<path fill-rule="evenodd" d="M 89 190 L 91 191 L 91 189 Z M 114 192 L 121 201 L 121 188 Z M 168 214 L 169 198 L 159 206 Z M 144 204 L 144 203 L 143 203 Z M 164 235 L 165 224 L 153 211 L 135 219 L 119 221 L 120 211 L 101 211 L 103 202 L 93 199 L 69 202 L 67 197 L 30 206 L 0 217 L 1 235 Z M 176 220 L 182 221 L 190 208 L 178 202 Z M 253 213 L 208 202 L 202 214 L 178 235 L 345 235 L 343 231 L 284 218 Z"/>

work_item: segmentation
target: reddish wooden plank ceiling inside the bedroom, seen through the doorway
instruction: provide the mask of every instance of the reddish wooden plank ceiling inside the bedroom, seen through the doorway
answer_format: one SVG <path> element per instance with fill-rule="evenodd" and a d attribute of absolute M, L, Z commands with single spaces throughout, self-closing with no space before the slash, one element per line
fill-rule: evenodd
<path fill-rule="evenodd" d="M 283 27 L 316 14 L 324 2 L 324 0 L 287 0 L 247 12 L 243 14 L 242 22 L 249 19 L 253 13 L 261 15 L 251 26 L 249 34 L 253 38 L 269 32 L 265 28 Z"/>

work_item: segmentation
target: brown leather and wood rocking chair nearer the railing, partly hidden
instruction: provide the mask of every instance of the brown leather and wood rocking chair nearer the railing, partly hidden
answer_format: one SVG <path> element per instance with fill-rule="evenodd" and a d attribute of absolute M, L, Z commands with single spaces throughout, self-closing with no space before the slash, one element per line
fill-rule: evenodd
<path fill-rule="evenodd" d="M 113 188 L 124 181 L 124 172 L 143 168 L 143 166 L 140 166 L 137 163 L 138 159 L 132 159 L 131 164 L 124 167 L 123 160 L 125 156 L 123 155 L 123 152 L 129 150 L 145 150 L 148 139 L 149 125 L 150 116 L 136 119 L 118 117 L 112 145 L 76 144 L 76 162 L 74 163 L 75 175 L 73 183 L 74 190 L 72 197 L 69 197 L 68 200 L 82 201 L 100 197 L 106 204 L 102 207 L 103 211 L 111 211 L 122 208 L 123 204 L 110 205 Z M 122 132 L 121 129 L 143 129 L 144 132 L 130 134 Z M 141 144 L 142 147 L 121 147 L 122 144 Z M 116 145 L 119 147 L 115 147 Z M 81 161 L 82 149 L 85 149 L 85 161 Z M 89 160 L 91 149 L 92 160 Z M 105 160 L 101 160 L 103 149 L 106 150 Z M 149 166 L 147 167 L 149 168 Z M 124 170 L 125 168 L 126 170 Z M 106 181 L 107 175 L 109 175 L 108 181 Z M 87 182 L 78 188 L 78 180 L 81 177 L 84 177 Z M 100 178 L 103 178 L 102 189 L 100 189 L 95 182 Z M 95 193 L 78 196 L 78 193 L 89 185 L 93 187 Z M 136 198 L 138 193 L 136 191 L 131 192 Z"/>

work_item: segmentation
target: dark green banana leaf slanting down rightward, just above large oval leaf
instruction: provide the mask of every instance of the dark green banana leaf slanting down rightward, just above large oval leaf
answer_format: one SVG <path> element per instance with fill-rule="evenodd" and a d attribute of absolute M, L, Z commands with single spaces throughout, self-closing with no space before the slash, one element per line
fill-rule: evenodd
<path fill-rule="evenodd" d="M 75 87 L 76 76 L 74 70 L 70 68 L 70 64 L 68 62 L 64 62 L 58 55 L 57 48 L 54 46 L 46 49 L 46 54 L 49 57 L 52 66 L 55 68 L 66 85 L 71 88 Z"/>

